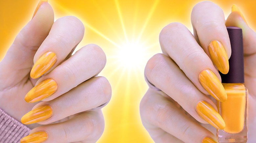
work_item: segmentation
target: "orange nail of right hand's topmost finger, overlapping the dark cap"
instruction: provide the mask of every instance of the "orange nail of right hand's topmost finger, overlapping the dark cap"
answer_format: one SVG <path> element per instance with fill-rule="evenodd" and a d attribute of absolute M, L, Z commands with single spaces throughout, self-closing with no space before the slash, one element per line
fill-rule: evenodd
<path fill-rule="evenodd" d="M 229 63 L 226 50 L 220 41 L 211 41 L 208 45 L 208 50 L 213 63 L 223 74 L 227 74 Z"/>

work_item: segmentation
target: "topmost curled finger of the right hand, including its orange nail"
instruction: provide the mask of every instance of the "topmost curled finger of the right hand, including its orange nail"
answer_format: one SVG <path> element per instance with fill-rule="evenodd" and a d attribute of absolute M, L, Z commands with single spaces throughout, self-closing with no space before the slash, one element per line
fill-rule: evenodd
<path fill-rule="evenodd" d="M 198 3 L 192 10 L 191 22 L 204 52 L 226 74 L 229 70 L 231 46 L 223 10 L 209 1 Z"/>

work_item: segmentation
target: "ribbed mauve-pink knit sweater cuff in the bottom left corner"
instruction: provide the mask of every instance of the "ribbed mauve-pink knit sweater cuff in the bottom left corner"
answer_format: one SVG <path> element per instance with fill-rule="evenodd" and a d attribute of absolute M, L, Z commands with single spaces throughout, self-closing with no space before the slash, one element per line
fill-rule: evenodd
<path fill-rule="evenodd" d="M 0 143 L 18 143 L 31 130 L 0 108 Z"/>

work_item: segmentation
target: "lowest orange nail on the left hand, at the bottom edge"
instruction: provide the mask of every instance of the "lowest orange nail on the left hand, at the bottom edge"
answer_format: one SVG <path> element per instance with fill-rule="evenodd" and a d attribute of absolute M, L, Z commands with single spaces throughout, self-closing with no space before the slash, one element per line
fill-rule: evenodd
<path fill-rule="evenodd" d="M 48 135 L 46 132 L 35 132 L 22 138 L 20 140 L 20 143 L 41 143 L 46 141 L 47 138 Z"/>

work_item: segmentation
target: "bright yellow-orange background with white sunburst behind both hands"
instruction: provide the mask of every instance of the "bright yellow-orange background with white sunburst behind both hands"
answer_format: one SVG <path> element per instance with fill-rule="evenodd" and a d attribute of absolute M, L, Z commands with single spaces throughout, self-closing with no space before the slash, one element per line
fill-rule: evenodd
<path fill-rule="evenodd" d="M 85 25 L 78 45 L 99 45 L 107 55 L 101 72 L 109 79 L 113 94 L 103 108 L 105 131 L 99 143 L 153 142 L 139 117 L 139 102 L 147 90 L 143 70 L 147 60 L 160 52 L 160 30 L 180 22 L 190 30 L 190 13 L 199 0 L 49 0 L 55 20 L 74 15 Z M 225 17 L 238 5 L 250 27 L 255 29 L 255 0 L 213 0 Z M 0 0 L 0 60 L 15 35 L 31 20 L 37 0 Z M 213 11 L 214 12 L 214 11 Z"/>

